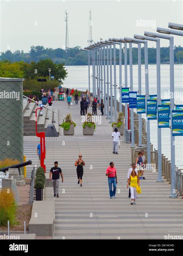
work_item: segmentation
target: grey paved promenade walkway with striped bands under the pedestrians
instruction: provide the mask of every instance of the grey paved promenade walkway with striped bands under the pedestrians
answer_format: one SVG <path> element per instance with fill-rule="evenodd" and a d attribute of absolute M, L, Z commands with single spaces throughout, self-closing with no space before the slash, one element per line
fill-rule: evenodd
<path fill-rule="evenodd" d="M 64 176 L 59 198 L 53 197 L 53 188 L 46 188 L 45 199 L 55 202 L 53 239 L 164 239 L 168 234 L 183 235 L 183 202 L 180 198 L 169 198 L 169 185 L 156 183 L 156 173 L 146 171 L 146 180 L 141 181 L 142 194 L 138 195 L 136 205 L 130 205 L 126 188 L 130 145 L 121 142 L 119 154 L 112 154 L 109 120 L 102 116 L 102 124 L 97 124 L 95 134 L 83 136 L 80 105 L 73 103 L 71 109 L 66 102 L 54 102 L 54 105 L 58 105 L 63 115 L 70 112 L 77 126 L 74 136 L 65 137 L 61 130 L 61 136 L 46 138 L 47 171 L 58 160 Z M 38 142 L 36 137 L 24 136 L 24 154 L 33 164 L 37 161 Z M 74 166 L 78 154 L 82 154 L 86 163 L 83 187 L 77 184 Z M 110 161 L 114 162 L 118 177 L 117 198 L 112 199 L 105 176 Z"/>

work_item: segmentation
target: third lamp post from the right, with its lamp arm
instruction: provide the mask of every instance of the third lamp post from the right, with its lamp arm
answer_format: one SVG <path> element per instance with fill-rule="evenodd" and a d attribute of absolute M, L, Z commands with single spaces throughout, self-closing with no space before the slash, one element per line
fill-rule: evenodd
<path fill-rule="evenodd" d="M 130 37 L 124 37 L 124 40 L 127 42 L 136 42 L 144 44 L 144 62 L 145 62 L 145 84 L 146 84 L 146 102 L 149 98 L 149 71 L 148 71 L 148 48 L 147 40 L 134 39 Z M 151 138 L 150 138 L 150 122 L 146 120 L 147 125 L 147 163 L 151 163 Z"/>

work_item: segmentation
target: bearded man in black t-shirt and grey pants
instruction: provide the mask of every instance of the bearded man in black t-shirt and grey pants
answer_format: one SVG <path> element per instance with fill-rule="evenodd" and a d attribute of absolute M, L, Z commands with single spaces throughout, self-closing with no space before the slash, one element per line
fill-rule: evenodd
<path fill-rule="evenodd" d="M 58 189 L 59 189 L 59 180 L 60 176 L 62 178 L 62 182 L 64 181 L 63 179 L 63 174 L 61 168 L 58 167 L 58 162 L 54 162 L 54 167 L 51 168 L 50 173 L 49 173 L 49 180 L 53 181 L 53 191 L 54 191 L 54 197 L 59 197 L 58 194 Z M 51 179 L 52 175 L 52 179 Z"/>

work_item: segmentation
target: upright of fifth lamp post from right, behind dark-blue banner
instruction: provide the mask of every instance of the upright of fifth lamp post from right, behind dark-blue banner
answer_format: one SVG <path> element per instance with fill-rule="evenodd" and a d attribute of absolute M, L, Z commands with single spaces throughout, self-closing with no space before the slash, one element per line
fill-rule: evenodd
<path fill-rule="evenodd" d="M 130 58 L 130 92 L 133 92 L 133 60 L 132 60 L 132 43 L 129 43 L 129 58 Z M 131 115 L 131 147 L 135 147 L 134 136 L 134 109 L 130 109 Z"/>

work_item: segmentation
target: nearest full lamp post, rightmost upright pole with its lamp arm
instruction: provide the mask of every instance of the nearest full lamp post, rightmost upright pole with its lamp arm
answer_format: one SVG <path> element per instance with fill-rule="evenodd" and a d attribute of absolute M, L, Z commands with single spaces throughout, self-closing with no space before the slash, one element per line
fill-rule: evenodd
<path fill-rule="evenodd" d="M 157 37 L 169 40 L 169 67 L 170 67 L 170 92 L 174 95 L 174 48 L 173 48 L 173 36 L 163 35 L 152 32 L 144 32 L 145 36 Z M 170 113 L 174 110 L 174 97 L 170 98 Z M 172 136 L 172 115 L 170 115 L 170 132 L 171 132 L 171 195 L 170 198 L 176 198 L 175 193 L 176 180 L 175 180 L 175 136 Z"/>

